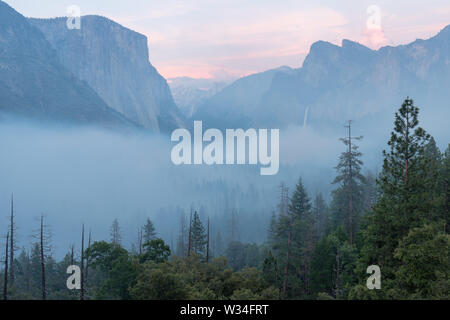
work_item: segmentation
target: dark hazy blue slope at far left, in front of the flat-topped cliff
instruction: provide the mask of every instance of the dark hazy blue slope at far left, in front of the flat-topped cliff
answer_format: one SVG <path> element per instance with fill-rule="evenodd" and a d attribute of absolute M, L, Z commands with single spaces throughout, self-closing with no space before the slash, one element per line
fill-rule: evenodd
<path fill-rule="evenodd" d="M 62 66 L 44 35 L 2 1 L 0 113 L 39 121 L 137 127 Z"/>

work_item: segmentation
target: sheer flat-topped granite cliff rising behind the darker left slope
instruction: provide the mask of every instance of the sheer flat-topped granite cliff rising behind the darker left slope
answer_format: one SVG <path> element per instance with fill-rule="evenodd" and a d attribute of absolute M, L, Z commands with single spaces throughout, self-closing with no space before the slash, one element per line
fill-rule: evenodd
<path fill-rule="evenodd" d="M 113 109 L 155 132 L 183 126 L 166 80 L 150 64 L 147 38 L 109 19 L 29 19 L 55 48 L 59 61 Z"/>

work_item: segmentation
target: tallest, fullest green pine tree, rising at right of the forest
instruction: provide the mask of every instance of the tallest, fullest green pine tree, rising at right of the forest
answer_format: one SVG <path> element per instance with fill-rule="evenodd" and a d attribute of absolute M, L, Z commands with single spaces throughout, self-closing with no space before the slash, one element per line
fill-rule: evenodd
<path fill-rule="evenodd" d="M 401 265 L 394 256 L 399 241 L 432 217 L 434 182 L 425 157 L 430 136 L 418 127 L 418 114 L 419 108 L 409 98 L 395 114 L 390 150 L 383 151 L 383 170 L 377 180 L 380 199 L 364 232 L 359 272 L 365 272 L 368 265 L 379 265 L 387 288 L 384 292 L 398 286 L 393 281 Z"/>

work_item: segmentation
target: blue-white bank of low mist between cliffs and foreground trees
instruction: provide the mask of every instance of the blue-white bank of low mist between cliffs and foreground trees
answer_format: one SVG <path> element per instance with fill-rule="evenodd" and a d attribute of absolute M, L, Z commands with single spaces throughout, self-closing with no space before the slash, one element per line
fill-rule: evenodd
<path fill-rule="evenodd" d="M 364 171 L 380 169 L 381 142 L 388 134 L 359 143 Z M 191 207 L 203 221 L 209 216 L 212 232 L 220 231 L 225 241 L 235 209 L 239 240 L 262 242 L 282 181 L 292 190 L 301 176 L 311 196 L 329 197 L 343 135 L 344 127 L 335 134 L 307 127 L 281 130 L 279 172 L 261 176 L 259 165 L 175 166 L 170 160 L 175 143 L 165 135 L 2 123 L 0 233 L 6 233 L 14 193 L 18 245 L 29 247 L 43 213 L 58 257 L 71 244 L 79 248 L 82 223 L 93 240 L 109 240 L 115 218 L 126 247 L 137 241 L 138 228 L 149 217 L 174 249 L 180 215 Z"/>

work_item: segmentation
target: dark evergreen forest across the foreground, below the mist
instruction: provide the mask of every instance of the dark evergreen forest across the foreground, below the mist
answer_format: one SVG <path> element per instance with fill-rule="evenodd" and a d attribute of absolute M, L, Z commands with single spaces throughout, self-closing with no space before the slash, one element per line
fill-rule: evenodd
<path fill-rule="evenodd" d="M 332 194 L 313 194 L 301 177 L 294 188 L 282 184 L 262 244 L 238 241 L 233 233 L 248 226 L 237 225 L 234 212 L 230 234 L 221 235 L 207 212 L 192 208 L 173 226 L 176 243 L 165 243 L 147 219 L 125 247 L 115 219 L 109 239 L 80 225 L 79 243 L 56 261 L 45 215 L 31 246 L 17 241 L 14 205 L 23 200 L 12 196 L 9 223 L 0 225 L 3 298 L 449 299 L 450 145 L 439 150 L 419 119 L 407 98 L 376 173 L 365 170 L 358 147 L 371 137 L 353 136 L 349 122 Z M 80 290 L 67 289 L 69 265 L 81 268 Z M 366 286 L 370 265 L 380 267 L 379 290 Z"/>

